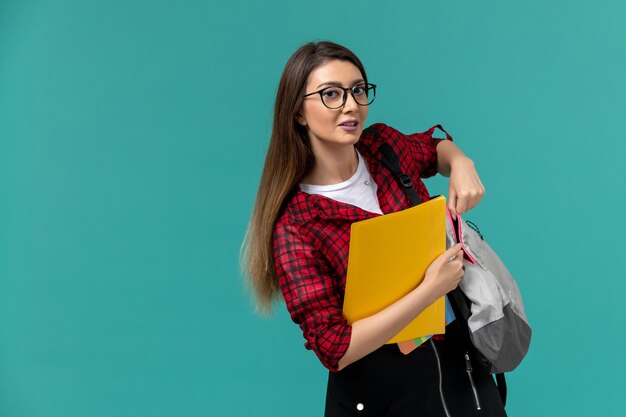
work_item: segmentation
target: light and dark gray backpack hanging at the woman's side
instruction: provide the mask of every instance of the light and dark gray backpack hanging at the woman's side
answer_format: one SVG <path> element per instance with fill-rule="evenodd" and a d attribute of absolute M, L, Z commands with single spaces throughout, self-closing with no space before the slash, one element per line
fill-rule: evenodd
<path fill-rule="evenodd" d="M 508 269 L 478 229 L 460 216 L 458 220 L 453 221 L 448 213 L 446 245 L 462 243 L 465 252 L 460 291 L 453 291 L 451 296 L 467 319 L 472 344 L 486 360 L 483 363 L 489 371 L 512 371 L 528 352 L 532 333 L 522 296 Z"/>

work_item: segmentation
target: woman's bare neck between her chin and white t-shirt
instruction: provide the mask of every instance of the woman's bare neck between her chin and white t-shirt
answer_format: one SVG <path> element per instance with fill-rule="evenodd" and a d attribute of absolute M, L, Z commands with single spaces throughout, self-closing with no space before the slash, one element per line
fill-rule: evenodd
<path fill-rule="evenodd" d="M 327 152 L 317 150 L 313 168 L 304 176 L 302 182 L 312 185 L 332 185 L 350 179 L 359 166 L 356 148 L 343 146 Z"/>

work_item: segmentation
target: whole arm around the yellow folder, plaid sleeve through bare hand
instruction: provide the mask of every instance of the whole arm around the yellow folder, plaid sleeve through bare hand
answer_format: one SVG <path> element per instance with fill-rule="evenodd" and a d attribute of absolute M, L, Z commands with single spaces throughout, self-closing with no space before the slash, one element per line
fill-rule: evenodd
<path fill-rule="evenodd" d="M 299 226 L 279 221 L 274 231 L 277 283 L 307 349 L 337 371 L 381 347 L 461 279 L 461 246 L 452 247 L 427 268 L 412 292 L 383 311 L 349 324 L 342 312 L 336 273 Z"/>

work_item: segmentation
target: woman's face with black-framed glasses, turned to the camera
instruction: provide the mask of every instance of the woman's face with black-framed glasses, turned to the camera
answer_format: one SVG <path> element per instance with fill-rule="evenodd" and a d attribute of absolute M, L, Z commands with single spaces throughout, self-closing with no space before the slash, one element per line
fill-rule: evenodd
<path fill-rule="evenodd" d="M 361 71 L 348 61 L 329 61 L 311 72 L 305 94 L 328 86 L 353 87 L 364 83 Z M 346 92 L 346 103 L 338 109 L 329 109 L 319 94 L 305 97 L 297 121 L 307 128 L 313 149 L 354 145 L 361 136 L 367 106 L 359 106 L 352 94 Z"/>

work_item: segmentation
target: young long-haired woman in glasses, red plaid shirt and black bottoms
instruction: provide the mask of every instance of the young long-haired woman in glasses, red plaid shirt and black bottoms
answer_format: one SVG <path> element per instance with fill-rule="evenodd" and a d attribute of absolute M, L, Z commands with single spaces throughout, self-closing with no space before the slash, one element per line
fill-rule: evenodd
<path fill-rule="evenodd" d="M 434 129 L 413 135 L 383 124 L 364 129 L 375 93 L 361 61 L 340 45 L 308 43 L 287 62 L 247 235 L 258 306 L 267 312 L 282 295 L 306 348 L 329 369 L 326 416 L 506 415 L 493 379 L 472 367 L 455 326 L 408 354 L 385 344 L 457 286 L 460 245 L 384 310 L 352 324 L 342 315 L 350 225 L 411 206 L 380 163 L 382 143 L 398 153 L 422 200 L 429 195 L 420 177 L 450 176 L 453 216 L 484 194 L 473 162 L 450 140 L 433 138 Z"/>

